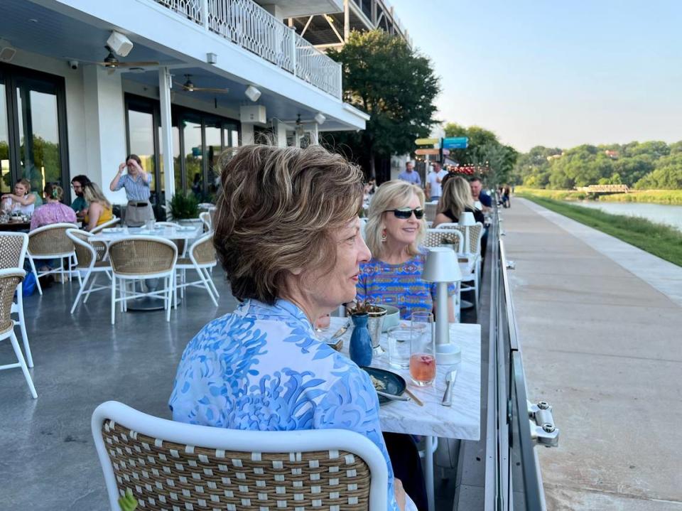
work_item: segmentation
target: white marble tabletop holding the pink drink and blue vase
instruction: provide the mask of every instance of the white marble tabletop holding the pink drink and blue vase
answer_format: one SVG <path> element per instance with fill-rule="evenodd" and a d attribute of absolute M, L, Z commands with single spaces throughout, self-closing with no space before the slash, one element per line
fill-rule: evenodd
<path fill-rule="evenodd" d="M 350 318 L 331 318 L 329 330 L 320 337 L 330 337 Z M 408 322 L 406 322 L 408 323 Z M 350 333 L 342 335 L 342 353 L 348 354 Z M 379 419 L 381 429 L 393 433 L 440 436 L 441 438 L 478 440 L 481 422 L 481 326 L 468 323 L 451 323 L 450 339 L 460 346 L 462 361 L 456 365 L 438 365 L 435 382 L 431 387 L 418 387 L 410 380 L 409 370 L 389 366 L 386 351 L 374 357 L 372 367 L 389 370 L 404 377 L 408 389 L 418 397 L 424 406 L 413 401 L 391 401 L 381 406 Z M 386 333 L 381 335 L 381 345 L 387 349 Z M 453 405 L 440 404 L 445 393 L 445 374 L 457 369 L 453 388 Z"/>

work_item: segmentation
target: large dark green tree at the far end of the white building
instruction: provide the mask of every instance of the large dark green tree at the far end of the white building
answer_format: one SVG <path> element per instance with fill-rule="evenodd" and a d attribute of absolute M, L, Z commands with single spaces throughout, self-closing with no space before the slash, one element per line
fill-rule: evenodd
<path fill-rule="evenodd" d="M 381 30 L 353 31 L 328 55 L 343 65 L 345 101 L 371 116 L 364 130 L 335 134 L 334 144 L 348 146 L 356 160 L 366 156 L 374 176 L 376 157 L 411 152 L 431 132 L 438 78 L 428 58 Z"/>

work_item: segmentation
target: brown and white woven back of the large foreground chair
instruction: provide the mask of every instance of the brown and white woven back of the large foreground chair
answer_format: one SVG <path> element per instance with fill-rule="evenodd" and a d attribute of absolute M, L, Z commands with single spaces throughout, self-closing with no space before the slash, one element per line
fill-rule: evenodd
<path fill-rule="evenodd" d="M 370 473 L 345 451 L 256 453 L 171 443 L 109 419 L 104 446 L 119 493 L 144 509 L 366 511 Z"/>

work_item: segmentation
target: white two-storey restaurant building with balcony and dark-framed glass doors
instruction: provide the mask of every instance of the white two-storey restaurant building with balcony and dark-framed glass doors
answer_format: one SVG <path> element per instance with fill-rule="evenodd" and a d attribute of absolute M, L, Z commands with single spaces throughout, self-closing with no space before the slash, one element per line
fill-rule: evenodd
<path fill-rule="evenodd" d="M 122 204 L 109 182 L 132 153 L 152 173 L 153 204 L 180 190 L 210 199 L 225 149 L 364 129 L 367 115 L 341 100 L 340 65 L 270 14 L 276 1 L 261 3 L 4 0 L 2 193 L 28 178 L 38 193 L 61 183 L 70 200 L 71 178 L 84 174 Z M 342 0 L 283 4 L 300 16 Z M 112 32 L 129 53 L 105 48 Z"/>

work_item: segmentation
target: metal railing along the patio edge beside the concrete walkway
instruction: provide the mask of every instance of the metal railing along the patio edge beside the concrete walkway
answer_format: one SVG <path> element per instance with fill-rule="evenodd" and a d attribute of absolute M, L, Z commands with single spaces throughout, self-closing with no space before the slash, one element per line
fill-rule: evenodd
<path fill-rule="evenodd" d="M 536 446 L 557 446 L 558 429 L 546 402 L 531 404 L 501 219 L 497 208 L 489 228 L 490 317 L 485 510 L 546 509 Z"/>

